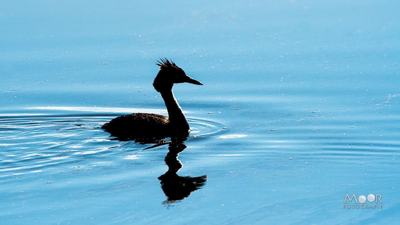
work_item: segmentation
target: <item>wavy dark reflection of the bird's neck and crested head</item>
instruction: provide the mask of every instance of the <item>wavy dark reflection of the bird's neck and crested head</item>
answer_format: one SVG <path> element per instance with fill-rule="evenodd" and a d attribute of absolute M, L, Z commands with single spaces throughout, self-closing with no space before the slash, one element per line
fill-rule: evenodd
<path fill-rule="evenodd" d="M 162 202 L 166 206 L 170 206 L 170 204 L 186 198 L 191 192 L 204 186 L 207 181 L 207 175 L 191 177 L 176 174 L 182 168 L 182 163 L 179 161 L 178 155 L 179 152 L 182 152 L 186 148 L 184 144 L 186 139 L 187 136 L 171 137 L 171 141 L 168 143 L 169 151 L 164 159 L 168 166 L 168 171 L 158 177 L 161 188 L 167 197 Z"/>

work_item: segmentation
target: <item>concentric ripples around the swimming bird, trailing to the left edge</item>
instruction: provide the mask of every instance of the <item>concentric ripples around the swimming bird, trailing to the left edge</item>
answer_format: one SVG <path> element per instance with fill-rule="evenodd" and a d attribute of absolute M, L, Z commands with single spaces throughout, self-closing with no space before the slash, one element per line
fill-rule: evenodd
<path fill-rule="evenodd" d="M 0 116 L 0 177 L 41 172 L 57 165 L 62 165 L 60 170 L 72 168 L 87 158 L 97 162 L 104 156 L 108 161 L 119 160 L 121 150 L 142 150 L 145 146 L 113 140 L 100 128 L 115 116 L 28 113 Z M 192 127 L 189 138 L 193 141 L 224 130 L 215 121 L 191 118 L 189 122 Z"/>

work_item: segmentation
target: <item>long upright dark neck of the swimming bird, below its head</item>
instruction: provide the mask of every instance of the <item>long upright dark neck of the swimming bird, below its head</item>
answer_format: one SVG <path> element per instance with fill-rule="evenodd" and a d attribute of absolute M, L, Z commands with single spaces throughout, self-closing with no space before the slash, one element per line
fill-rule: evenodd
<path fill-rule="evenodd" d="M 183 114 L 178 102 L 173 96 L 172 89 L 161 91 L 161 96 L 164 99 L 166 109 L 169 115 L 169 125 L 174 131 L 188 132 L 189 123 Z"/>

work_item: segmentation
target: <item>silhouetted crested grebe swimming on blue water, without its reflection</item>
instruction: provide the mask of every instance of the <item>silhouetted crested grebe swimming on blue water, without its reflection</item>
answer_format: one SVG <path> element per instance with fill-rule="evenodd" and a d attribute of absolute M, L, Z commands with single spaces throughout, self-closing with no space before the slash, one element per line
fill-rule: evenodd
<path fill-rule="evenodd" d="M 172 60 L 160 58 L 155 64 L 160 67 L 160 70 L 154 78 L 153 87 L 164 99 L 169 117 L 152 113 L 122 115 L 101 126 L 111 136 L 121 140 L 144 138 L 145 142 L 148 142 L 149 138 L 156 140 L 175 135 L 188 135 L 189 123 L 173 96 L 172 86 L 174 83 L 183 82 L 203 84 L 186 75 L 183 69 Z"/>

